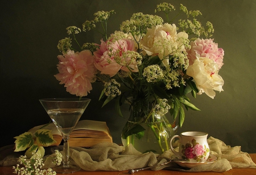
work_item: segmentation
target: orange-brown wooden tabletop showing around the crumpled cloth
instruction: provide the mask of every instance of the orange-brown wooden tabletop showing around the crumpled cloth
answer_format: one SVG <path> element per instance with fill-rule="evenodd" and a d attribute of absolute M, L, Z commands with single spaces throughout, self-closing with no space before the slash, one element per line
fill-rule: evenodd
<path fill-rule="evenodd" d="M 256 163 L 256 153 L 250 154 L 251 159 L 253 159 L 254 163 Z M 12 167 L 0 167 L 0 175 L 11 175 L 13 173 Z M 57 173 L 60 175 L 59 173 Z M 129 174 L 127 171 L 123 172 L 88 172 L 85 170 L 80 170 L 79 172 L 72 173 L 73 175 L 126 175 Z M 232 169 L 222 173 L 216 172 L 178 172 L 172 170 L 159 170 L 159 171 L 152 171 L 152 170 L 142 170 L 139 172 L 134 173 L 134 175 L 170 175 L 170 174 L 179 174 L 179 175 L 247 175 L 247 174 L 255 174 L 256 175 L 256 168 L 239 168 L 239 169 Z"/>

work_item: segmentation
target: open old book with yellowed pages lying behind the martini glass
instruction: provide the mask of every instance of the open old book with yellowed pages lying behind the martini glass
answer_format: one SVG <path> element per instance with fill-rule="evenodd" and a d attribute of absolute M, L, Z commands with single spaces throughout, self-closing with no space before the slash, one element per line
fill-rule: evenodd
<path fill-rule="evenodd" d="M 44 125 L 35 126 L 28 132 L 35 133 L 36 130 L 41 129 L 43 126 Z M 49 123 L 42 129 L 52 131 L 53 139 L 56 140 L 56 143 L 52 144 L 52 146 L 58 146 L 61 143 L 62 136 L 54 123 Z M 70 147 L 92 147 L 100 142 L 112 143 L 112 135 L 110 134 L 106 122 L 93 120 L 81 120 L 77 122 L 77 125 L 69 135 L 68 140 Z"/>

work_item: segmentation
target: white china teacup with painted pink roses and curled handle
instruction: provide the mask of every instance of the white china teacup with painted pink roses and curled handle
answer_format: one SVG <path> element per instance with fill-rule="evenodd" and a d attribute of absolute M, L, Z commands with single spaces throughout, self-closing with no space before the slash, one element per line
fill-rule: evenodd
<path fill-rule="evenodd" d="M 171 138 L 171 151 L 179 158 L 187 160 L 188 163 L 204 163 L 209 157 L 209 145 L 207 142 L 207 133 L 198 131 L 184 132 L 179 135 L 174 135 Z M 172 140 L 179 139 L 179 152 L 172 147 Z"/>

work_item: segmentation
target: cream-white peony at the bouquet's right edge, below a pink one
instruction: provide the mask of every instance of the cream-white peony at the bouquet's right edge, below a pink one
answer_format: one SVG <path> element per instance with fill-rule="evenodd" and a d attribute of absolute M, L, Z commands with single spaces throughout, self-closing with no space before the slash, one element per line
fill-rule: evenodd
<path fill-rule="evenodd" d="M 216 95 L 213 91 L 223 91 L 224 80 L 218 75 L 218 65 L 212 59 L 197 56 L 193 65 L 188 66 L 187 75 L 195 80 L 199 95 L 206 93 L 212 99 Z"/>

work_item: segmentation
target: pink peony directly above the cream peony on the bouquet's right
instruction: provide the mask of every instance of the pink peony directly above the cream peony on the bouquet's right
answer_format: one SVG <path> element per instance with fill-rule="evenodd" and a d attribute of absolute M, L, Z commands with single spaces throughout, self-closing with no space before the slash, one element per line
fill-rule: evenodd
<path fill-rule="evenodd" d="M 224 50 L 218 48 L 218 44 L 212 39 L 196 39 L 191 42 L 191 49 L 188 51 L 189 65 L 192 65 L 196 57 L 207 57 L 212 59 L 218 65 L 218 70 L 224 65 Z"/>

